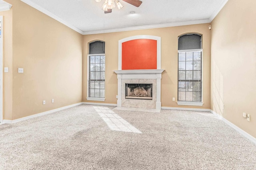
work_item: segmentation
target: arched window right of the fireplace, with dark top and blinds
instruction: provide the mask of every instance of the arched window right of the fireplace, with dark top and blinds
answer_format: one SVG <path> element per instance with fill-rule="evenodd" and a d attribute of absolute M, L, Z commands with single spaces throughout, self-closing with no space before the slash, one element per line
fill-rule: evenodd
<path fill-rule="evenodd" d="M 178 104 L 202 106 L 202 35 L 178 37 Z"/>

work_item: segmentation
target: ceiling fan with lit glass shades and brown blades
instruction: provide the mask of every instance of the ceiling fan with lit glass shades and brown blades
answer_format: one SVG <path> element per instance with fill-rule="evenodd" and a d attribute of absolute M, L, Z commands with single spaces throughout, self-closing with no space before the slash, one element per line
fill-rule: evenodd
<path fill-rule="evenodd" d="M 100 0 L 95 0 L 96 2 L 100 2 Z M 111 13 L 112 8 L 115 7 L 114 1 L 116 2 L 116 6 L 118 7 L 118 10 L 123 8 L 124 6 L 120 3 L 120 0 L 105 0 L 102 10 L 104 10 L 105 14 Z M 123 0 L 124 2 L 127 2 L 133 6 L 139 7 L 142 4 L 142 1 L 140 0 Z"/>

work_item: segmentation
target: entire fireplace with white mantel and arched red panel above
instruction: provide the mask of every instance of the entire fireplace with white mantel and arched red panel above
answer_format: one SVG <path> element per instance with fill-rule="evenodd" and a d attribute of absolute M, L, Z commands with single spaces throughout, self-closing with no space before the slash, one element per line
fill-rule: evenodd
<path fill-rule="evenodd" d="M 144 51 L 140 50 L 141 48 Z M 117 107 L 149 108 L 160 111 L 163 71 L 161 37 L 136 35 L 120 39 L 118 70 L 114 70 L 118 78 Z"/>

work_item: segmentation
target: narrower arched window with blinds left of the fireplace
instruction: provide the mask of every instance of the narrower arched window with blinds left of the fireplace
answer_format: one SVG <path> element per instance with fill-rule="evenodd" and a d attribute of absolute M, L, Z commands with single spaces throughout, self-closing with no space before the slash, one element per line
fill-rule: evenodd
<path fill-rule="evenodd" d="M 105 42 L 89 43 L 87 100 L 105 100 Z"/>

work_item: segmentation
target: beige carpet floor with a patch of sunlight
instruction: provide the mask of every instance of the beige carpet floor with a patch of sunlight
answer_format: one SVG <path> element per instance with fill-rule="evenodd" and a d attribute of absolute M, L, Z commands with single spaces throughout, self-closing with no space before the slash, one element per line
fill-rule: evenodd
<path fill-rule="evenodd" d="M 113 108 L 0 125 L 0 170 L 256 170 L 256 145 L 211 113 Z"/>

